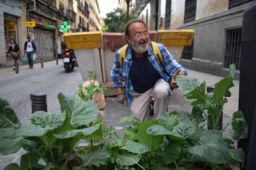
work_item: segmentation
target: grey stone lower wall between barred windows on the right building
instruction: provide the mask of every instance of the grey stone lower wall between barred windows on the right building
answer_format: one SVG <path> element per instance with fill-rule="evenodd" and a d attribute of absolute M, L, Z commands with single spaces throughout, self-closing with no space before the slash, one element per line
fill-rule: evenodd
<path fill-rule="evenodd" d="M 242 14 L 250 4 L 252 3 L 176 26 L 174 29 L 195 30 L 193 58 L 182 59 L 182 65 L 213 75 L 228 75 L 228 68 L 223 68 L 226 30 L 242 27 Z M 236 71 L 236 79 L 239 79 L 239 71 Z"/>

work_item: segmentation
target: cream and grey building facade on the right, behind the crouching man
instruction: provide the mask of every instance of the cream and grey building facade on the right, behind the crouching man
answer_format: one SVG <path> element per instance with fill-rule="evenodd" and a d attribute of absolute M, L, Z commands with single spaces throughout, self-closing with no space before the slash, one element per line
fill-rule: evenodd
<path fill-rule="evenodd" d="M 184 67 L 228 75 L 231 63 L 239 79 L 242 15 L 255 0 L 136 0 L 135 14 L 150 30 L 194 29 L 194 43 L 184 47 Z M 145 17 L 146 16 L 146 17 Z M 151 20 L 148 21 L 148 16 Z M 147 22 L 148 21 L 148 22 Z"/>

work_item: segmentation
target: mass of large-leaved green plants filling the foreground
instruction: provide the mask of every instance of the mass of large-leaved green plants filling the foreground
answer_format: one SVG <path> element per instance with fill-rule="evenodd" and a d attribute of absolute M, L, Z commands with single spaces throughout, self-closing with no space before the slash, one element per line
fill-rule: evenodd
<path fill-rule="evenodd" d="M 96 74 L 90 72 L 92 81 Z M 223 139 L 218 119 L 223 110 L 231 76 L 216 83 L 215 91 L 205 93 L 205 83 L 179 76 L 179 86 L 185 96 L 194 99 L 191 113 L 172 111 L 159 119 L 141 122 L 135 116 L 124 117 L 128 122 L 124 136 L 119 137 L 113 126 L 96 121 L 98 108 L 90 95 L 86 98 L 68 97 L 59 93 L 61 115 L 38 111 L 30 117 L 31 124 L 23 126 L 9 103 L 0 99 L 0 153 L 8 155 L 23 147 L 20 166 L 12 163 L 5 169 L 226 169 L 244 165 L 244 152 L 234 148 L 234 140 L 247 137 L 247 123 L 241 111 L 233 114 L 230 131 L 232 139 Z M 179 82 L 180 81 L 180 82 Z M 92 84 L 93 85 L 93 84 Z M 82 85 L 81 85 L 82 86 Z M 84 95 L 84 96 L 83 96 Z M 86 100 L 89 100 L 85 102 Z M 7 113 L 9 113 L 7 115 Z M 203 129 L 205 124 L 214 127 Z M 88 146 L 77 148 L 77 142 L 87 140 Z M 77 150 L 78 149 L 78 150 Z M 44 165 L 39 160 L 44 161 Z"/>

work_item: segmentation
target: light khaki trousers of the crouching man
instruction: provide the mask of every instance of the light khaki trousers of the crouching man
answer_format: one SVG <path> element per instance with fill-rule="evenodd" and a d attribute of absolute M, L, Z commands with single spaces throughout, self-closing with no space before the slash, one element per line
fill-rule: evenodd
<path fill-rule="evenodd" d="M 132 115 L 138 116 L 140 120 L 147 121 L 157 119 L 168 109 L 169 99 L 171 97 L 171 89 L 169 84 L 161 79 L 154 87 L 148 91 L 139 94 L 135 91 L 130 91 L 130 95 L 134 97 L 130 105 Z M 149 115 L 148 106 L 151 99 L 154 100 L 154 116 Z"/>

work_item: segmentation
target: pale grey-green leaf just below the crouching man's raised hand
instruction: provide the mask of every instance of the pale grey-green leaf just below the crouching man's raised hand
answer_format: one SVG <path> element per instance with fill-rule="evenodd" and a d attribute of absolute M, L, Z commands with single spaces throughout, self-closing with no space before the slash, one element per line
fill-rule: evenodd
<path fill-rule="evenodd" d="M 189 78 L 188 76 L 179 75 L 177 76 L 177 85 L 182 87 L 185 94 L 194 91 L 199 86 L 200 82 L 195 78 Z"/>

